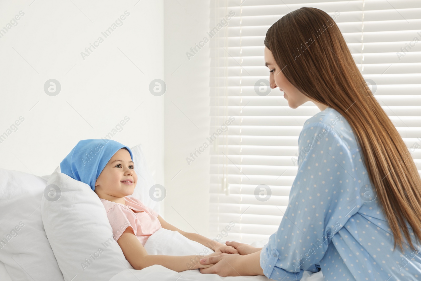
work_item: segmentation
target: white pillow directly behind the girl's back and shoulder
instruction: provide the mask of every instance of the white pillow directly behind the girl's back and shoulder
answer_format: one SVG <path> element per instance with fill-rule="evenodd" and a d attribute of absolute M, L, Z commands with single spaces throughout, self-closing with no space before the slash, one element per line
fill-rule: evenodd
<path fill-rule="evenodd" d="M 132 268 L 91 187 L 61 173 L 58 166 L 45 189 L 41 215 L 64 280 L 109 280 Z"/>

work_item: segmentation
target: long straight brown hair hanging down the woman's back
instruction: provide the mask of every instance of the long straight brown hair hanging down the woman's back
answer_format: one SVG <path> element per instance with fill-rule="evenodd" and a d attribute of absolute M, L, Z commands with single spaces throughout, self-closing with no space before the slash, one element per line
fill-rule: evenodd
<path fill-rule="evenodd" d="M 357 137 L 371 184 L 396 245 L 406 222 L 421 241 L 421 178 L 402 137 L 365 83 L 335 21 L 324 11 L 303 7 L 267 31 L 264 45 L 293 86 L 337 110 Z"/>

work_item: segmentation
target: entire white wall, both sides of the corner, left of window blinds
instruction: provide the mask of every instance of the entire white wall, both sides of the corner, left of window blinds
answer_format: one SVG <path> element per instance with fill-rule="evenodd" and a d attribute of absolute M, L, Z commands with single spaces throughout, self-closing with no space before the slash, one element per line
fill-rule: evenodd
<path fill-rule="evenodd" d="M 186 157 L 209 136 L 209 43 L 190 60 L 186 52 L 209 30 L 209 1 L 73 3 L 0 3 L 0 28 L 24 13 L 0 38 L 0 134 L 7 134 L 0 167 L 51 174 L 79 140 L 100 139 L 128 116 L 112 139 L 142 144 L 155 182 L 167 190 L 161 215 L 208 236 L 209 151 L 190 166 Z M 123 25 L 101 35 L 125 11 Z M 61 84 L 56 96 L 43 88 L 52 78 Z M 163 96 L 149 92 L 156 78 L 167 85 Z"/>

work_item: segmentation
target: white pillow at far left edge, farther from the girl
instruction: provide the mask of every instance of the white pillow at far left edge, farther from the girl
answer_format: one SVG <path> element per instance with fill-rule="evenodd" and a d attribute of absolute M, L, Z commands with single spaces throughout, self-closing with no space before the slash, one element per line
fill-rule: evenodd
<path fill-rule="evenodd" d="M 14 281 L 64 280 L 41 219 L 45 185 L 33 174 L 0 169 L 0 261 Z"/>

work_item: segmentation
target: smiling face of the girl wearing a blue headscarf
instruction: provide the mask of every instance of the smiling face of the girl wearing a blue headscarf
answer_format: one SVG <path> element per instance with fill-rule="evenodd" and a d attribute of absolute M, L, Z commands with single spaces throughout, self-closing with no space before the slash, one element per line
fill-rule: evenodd
<path fill-rule="evenodd" d="M 131 180 L 131 183 L 123 181 Z M 137 183 L 134 163 L 125 148 L 118 150 L 108 161 L 95 182 L 95 193 L 99 198 L 113 199 L 132 195 Z M 110 197 L 111 196 L 111 197 Z"/>

